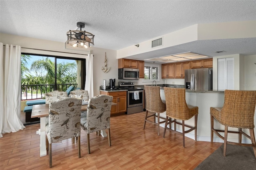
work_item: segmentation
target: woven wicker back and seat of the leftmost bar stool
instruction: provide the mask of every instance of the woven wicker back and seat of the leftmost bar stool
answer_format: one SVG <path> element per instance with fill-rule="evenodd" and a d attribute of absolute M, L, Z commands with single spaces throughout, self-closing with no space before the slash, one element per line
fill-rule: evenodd
<path fill-rule="evenodd" d="M 160 97 L 159 86 L 144 85 L 146 97 L 146 110 L 154 113 L 162 113 L 166 111 L 166 105 L 162 102 Z"/>

